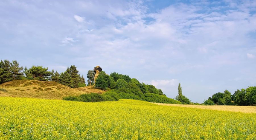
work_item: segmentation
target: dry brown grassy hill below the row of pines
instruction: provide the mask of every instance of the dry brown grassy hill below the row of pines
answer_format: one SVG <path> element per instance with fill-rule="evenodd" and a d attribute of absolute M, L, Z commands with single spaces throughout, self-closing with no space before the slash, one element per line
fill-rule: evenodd
<path fill-rule="evenodd" d="M 0 84 L 0 96 L 6 97 L 62 99 L 66 96 L 90 92 L 103 93 L 104 91 L 93 87 L 73 89 L 54 81 L 14 80 Z"/>

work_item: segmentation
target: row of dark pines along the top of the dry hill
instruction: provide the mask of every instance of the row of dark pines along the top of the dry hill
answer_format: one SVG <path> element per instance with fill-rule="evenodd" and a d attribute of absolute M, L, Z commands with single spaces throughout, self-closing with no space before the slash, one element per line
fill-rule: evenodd
<path fill-rule="evenodd" d="M 56 81 L 68 87 L 84 87 L 85 79 L 79 74 L 76 66 L 71 65 L 67 70 L 58 73 L 58 71 L 48 71 L 48 67 L 32 66 L 30 68 L 20 67 L 17 60 L 1 60 L 0 62 L 0 84 L 12 80 L 29 79 L 39 81 Z"/>

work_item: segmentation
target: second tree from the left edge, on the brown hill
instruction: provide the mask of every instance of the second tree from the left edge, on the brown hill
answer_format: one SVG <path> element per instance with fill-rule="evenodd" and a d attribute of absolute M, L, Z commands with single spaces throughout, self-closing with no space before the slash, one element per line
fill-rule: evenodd
<path fill-rule="evenodd" d="M 19 63 L 16 60 L 13 60 L 10 67 L 10 72 L 12 73 L 13 80 L 20 79 L 22 77 L 22 70 L 23 67 L 19 67 Z"/>

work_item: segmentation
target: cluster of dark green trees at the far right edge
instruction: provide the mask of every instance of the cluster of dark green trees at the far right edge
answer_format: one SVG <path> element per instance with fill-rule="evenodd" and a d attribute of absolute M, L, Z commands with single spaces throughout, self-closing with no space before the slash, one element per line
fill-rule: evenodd
<path fill-rule="evenodd" d="M 228 90 L 218 92 L 204 101 L 205 105 L 239 105 L 252 106 L 256 104 L 256 87 L 236 90 L 233 95 Z"/>

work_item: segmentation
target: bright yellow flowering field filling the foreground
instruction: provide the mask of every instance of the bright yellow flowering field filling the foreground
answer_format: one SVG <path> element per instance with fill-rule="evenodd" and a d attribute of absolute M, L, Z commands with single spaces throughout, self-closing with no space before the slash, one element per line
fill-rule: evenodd
<path fill-rule="evenodd" d="M 256 140 L 256 113 L 0 97 L 0 140 Z"/>

